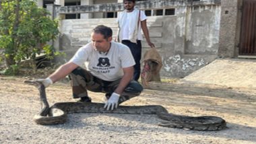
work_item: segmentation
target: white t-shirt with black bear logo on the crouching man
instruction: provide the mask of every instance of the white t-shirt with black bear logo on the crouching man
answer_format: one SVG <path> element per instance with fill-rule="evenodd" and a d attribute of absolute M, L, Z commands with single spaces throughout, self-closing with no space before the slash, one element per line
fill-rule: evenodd
<path fill-rule="evenodd" d="M 93 48 L 92 42 L 89 42 L 77 50 L 70 62 L 80 67 L 88 62 L 86 69 L 104 81 L 120 79 L 123 77 L 123 68 L 135 65 L 131 50 L 117 42 L 111 42 L 107 53 L 100 53 Z"/>

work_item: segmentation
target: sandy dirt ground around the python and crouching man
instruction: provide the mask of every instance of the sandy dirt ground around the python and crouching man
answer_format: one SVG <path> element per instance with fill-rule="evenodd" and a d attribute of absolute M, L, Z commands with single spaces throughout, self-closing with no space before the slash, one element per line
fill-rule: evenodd
<path fill-rule="evenodd" d="M 150 83 L 123 105 L 159 104 L 174 114 L 224 118 L 228 129 L 187 131 L 160 127 L 156 115 L 69 114 L 65 124 L 42 126 L 38 90 L 27 77 L 0 75 L 0 143 L 256 143 L 256 89 L 181 81 Z M 72 102 L 67 82 L 46 89 L 49 103 Z M 93 102 L 104 94 L 90 92 Z"/>

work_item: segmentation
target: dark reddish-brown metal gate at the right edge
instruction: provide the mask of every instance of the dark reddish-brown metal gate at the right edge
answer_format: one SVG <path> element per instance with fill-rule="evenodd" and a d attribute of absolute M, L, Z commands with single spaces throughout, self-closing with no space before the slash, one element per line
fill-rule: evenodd
<path fill-rule="evenodd" d="M 256 0 L 244 0 L 239 55 L 256 55 Z"/>

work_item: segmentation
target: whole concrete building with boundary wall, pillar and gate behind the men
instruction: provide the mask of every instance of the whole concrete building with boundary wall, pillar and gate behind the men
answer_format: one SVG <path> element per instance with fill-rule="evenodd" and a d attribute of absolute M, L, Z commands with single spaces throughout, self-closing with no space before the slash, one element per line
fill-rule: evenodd
<path fill-rule="evenodd" d="M 90 42 L 96 25 L 110 26 L 115 36 L 122 2 L 38 0 L 38 5 L 60 18 L 54 45 L 68 60 Z M 150 38 L 162 56 L 162 77 L 185 77 L 218 58 L 256 55 L 255 0 L 153 0 L 137 1 L 137 6 L 148 15 Z M 146 41 L 142 45 L 143 52 L 148 50 Z"/>

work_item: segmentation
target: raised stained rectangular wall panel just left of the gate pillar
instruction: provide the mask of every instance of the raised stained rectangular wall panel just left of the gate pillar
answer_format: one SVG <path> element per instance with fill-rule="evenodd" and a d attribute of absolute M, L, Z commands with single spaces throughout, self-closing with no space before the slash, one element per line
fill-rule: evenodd
<path fill-rule="evenodd" d="M 185 54 L 218 54 L 220 11 L 216 5 L 187 8 Z"/>

